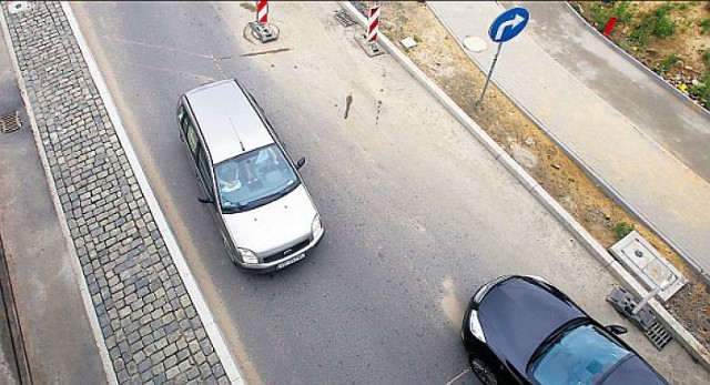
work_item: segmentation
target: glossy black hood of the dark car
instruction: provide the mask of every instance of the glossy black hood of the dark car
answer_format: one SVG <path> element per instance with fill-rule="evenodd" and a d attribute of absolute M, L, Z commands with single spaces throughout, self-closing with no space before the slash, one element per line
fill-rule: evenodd
<path fill-rule="evenodd" d="M 576 318 L 588 316 L 555 287 L 529 277 L 497 284 L 478 305 L 486 343 L 519 373 L 547 336 Z"/>

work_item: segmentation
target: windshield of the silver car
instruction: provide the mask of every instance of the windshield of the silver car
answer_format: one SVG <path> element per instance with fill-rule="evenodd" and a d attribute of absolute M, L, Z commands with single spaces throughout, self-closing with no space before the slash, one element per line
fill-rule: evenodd
<path fill-rule="evenodd" d="M 301 181 L 276 144 L 227 159 L 214 166 L 225 214 L 252 210 L 293 191 Z"/>

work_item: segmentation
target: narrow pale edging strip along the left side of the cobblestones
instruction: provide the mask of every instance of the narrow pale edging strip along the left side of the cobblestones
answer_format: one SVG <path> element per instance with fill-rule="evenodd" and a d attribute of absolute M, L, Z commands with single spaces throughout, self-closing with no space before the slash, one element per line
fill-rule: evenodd
<path fill-rule="evenodd" d="M 44 152 L 44 145 L 42 144 L 42 139 L 40 138 L 40 131 L 37 125 L 37 120 L 34 119 L 34 110 L 32 109 L 32 104 L 30 103 L 30 97 L 27 92 L 27 87 L 24 85 L 24 78 L 22 78 L 22 72 L 18 67 L 18 58 L 14 54 L 14 48 L 12 47 L 10 30 L 8 29 L 7 20 L 4 19 L 4 13 L 1 11 L 0 11 L 0 24 L 2 24 L 2 33 L 4 34 L 4 40 L 8 43 L 8 48 L 9 48 L 8 51 L 10 53 L 10 62 L 12 62 L 12 70 L 14 71 L 14 75 L 18 80 L 18 88 L 20 89 L 20 94 L 22 95 L 22 101 L 24 102 L 24 108 L 27 109 L 27 114 L 30 120 L 30 126 L 32 128 L 32 136 L 34 136 L 34 144 L 39 152 L 42 168 L 44 169 L 44 179 L 47 180 L 47 184 L 49 186 L 49 193 L 50 193 L 52 203 L 54 204 L 54 211 L 57 212 L 57 216 L 59 219 L 59 227 L 61 229 L 61 232 L 64 239 L 64 246 L 67 247 L 69 259 L 71 260 L 71 270 L 74 274 L 74 280 L 79 285 L 79 293 L 81 293 L 81 300 L 87 311 L 87 317 L 89 320 L 89 324 L 91 325 L 91 334 L 93 335 L 94 343 L 97 344 L 97 348 L 99 348 L 99 355 L 101 356 L 101 363 L 103 364 L 103 372 L 106 375 L 106 382 L 109 384 L 118 385 L 119 381 L 115 376 L 115 372 L 113 371 L 113 363 L 111 362 L 109 349 L 106 348 L 106 342 L 103 338 L 103 333 L 101 332 L 101 326 L 99 325 L 99 317 L 97 316 L 97 310 L 93 305 L 93 301 L 91 300 L 89 285 L 87 284 L 87 278 L 84 277 L 84 273 L 81 269 L 81 263 L 79 262 L 77 250 L 74 249 L 74 242 L 71 237 L 71 232 L 69 230 L 67 216 L 64 216 L 62 204 L 59 201 L 59 194 L 57 193 L 57 185 L 54 184 L 54 178 L 52 178 L 52 173 L 49 168 L 49 160 L 47 158 L 47 153 Z"/>

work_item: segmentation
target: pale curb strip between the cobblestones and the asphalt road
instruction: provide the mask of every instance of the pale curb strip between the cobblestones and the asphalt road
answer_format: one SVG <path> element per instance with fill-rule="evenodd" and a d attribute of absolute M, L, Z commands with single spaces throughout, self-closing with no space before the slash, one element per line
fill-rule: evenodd
<path fill-rule="evenodd" d="M 187 262 L 185 261 L 185 257 L 182 254 L 180 246 L 178 245 L 178 242 L 175 241 L 175 236 L 173 235 L 173 232 L 170 230 L 170 225 L 165 220 L 165 215 L 163 214 L 163 211 L 158 204 L 158 200 L 153 194 L 153 190 L 151 189 L 150 183 L 148 182 L 148 179 L 143 173 L 141 163 L 138 156 L 135 155 L 135 152 L 133 151 L 131 141 L 129 140 L 125 129 L 123 128 L 123 123 L 121 122 L 121 116 L 119 115 L 119 111 L 115 104 L 113 103 L 113 98 L 111 98 L 109 88 L 105 81 L 103 80 L 103 75 L 101 74 L 99 64 L 94 60 L 93 54 L 89 49 L 89 44 L 87 44 L 87 41 L 84 40 L 83 34 L 81 33 L 81 30 L 79 28 L 79 22 L 77 21 L 77 18 L 74 17 L 74 13 L 71 10 L 71 6 L 67 1 L 62 1 L 61 4 L 64 10 L 64 13 L 67 14 L 67 20 L 69 21 L 69 26 L 72 32 L 74 33 L 74 37 L 77 38 L 77 42 L 79 43 L 79 48 L 81 49 L 81 53 L 84 58 L 84 61 L 89 67 L 89 72 L 91 73 L 91 77 L 93 78 L 93 81 L 97 84 L 97 89 L 101 94 L 103 104 L 106 109 L 106 112 L 109 113 L 109 119 L 111 119 L 111 122 L 113 123 L 116 135 L 121 141 L 121 145 L 125 151 L 125 156 L 128 158 L 129 163 L 131 164 L 131 169 L 135 174 L 135 179 L 138 180 L 139 185 L 141 186 L 141 191 L 145 196 L 145 201 L 148 202 L 148 205 L 151 209 L 151 213 L 153 214 L 153 219 L 158 224 L 158 229 L 160 230 L 163 236 L 163 240 L 165 241 L 165 246 L 170 251 L 170 255 L 172 256 L 175 263 L 178 273 L 180 274 L 181 278 L 183 280 L 183 283 L 185 284 L 185 288 L 187 290 L 187 293 L 190 294 L 190 298 L 195 305 L 195 310 L 197 311 L 200 318 L 210 321 L 210 327 L 207 327 L 207 325 L 205 325 L 204 323 L 203 325 L 205 325 L 205 331 L 210 336 L 210 341 L 212 342 L 212 345 L 214 346 L 214 349 L 217 356 L 220 357 L 220 361 L 222 362 L 224 372 L 226 373 L 227 378 L 230 379 L 230 382 L 232 382 L 232 384 L 245 384 L 236 366 L 234 357 L 232 356 L 232 353 L 230 352 L 226 345 L 226 342 L 224 341 L 224 337 L 222 335 L 222 332 L 220 331 L 219 325 L 216 324 L 216 322 L 213 321 L 214 316 L 212 315 L 212 311 L 210 311 L 210 307 L 207 306 L 207 303 L 205 302 L 204 296 L 202 295 L 202 291 L 200 290 L 200 286 L 194 281 L 194 276 L 192 275 L 190 266 L 187 265 Z"/>

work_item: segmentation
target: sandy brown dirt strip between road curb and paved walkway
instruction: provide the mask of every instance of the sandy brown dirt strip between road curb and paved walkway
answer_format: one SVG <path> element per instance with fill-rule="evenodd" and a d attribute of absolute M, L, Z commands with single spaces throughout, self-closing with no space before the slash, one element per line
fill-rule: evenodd
<path fill-rule="evenodd" d="M 361 10 L 372 4 L 366 1 L 353 3 Z M 424 3 L 382 2 L 381 32 L 394 42 L 406 37 L 415 39 L 418 45 L 410 50 L 397 44 L 605 247 L 617 242 L 613 231 L 617 223 L 633 224 L 646 240 L 688 277 L 689 283 L 665 306 L 698 341 L 710 348 L 708 288 L 677 253 L 613 203 L 495 84 L 489 84 L 484 105 L 477 111 L 473 110 L 473 101 L 479 97 L 486 77 Z"/>

